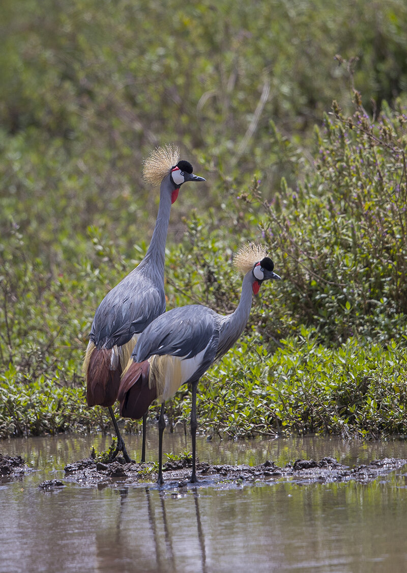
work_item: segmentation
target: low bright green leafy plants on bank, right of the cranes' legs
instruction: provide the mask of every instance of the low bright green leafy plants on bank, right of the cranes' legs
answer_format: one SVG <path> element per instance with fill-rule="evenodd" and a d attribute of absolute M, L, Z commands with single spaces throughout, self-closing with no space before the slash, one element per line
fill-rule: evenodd
<path fill-rule="evenodd" d="M 383 348 L 353 337 L 327 348 L 305 328 L 272 355 L 249 337 L 200 385 L 199 425 L 230 437 L 406 434 L 406 358 L 394 342 Z M 180 420 L 189 401 L 182 406 Z"/>

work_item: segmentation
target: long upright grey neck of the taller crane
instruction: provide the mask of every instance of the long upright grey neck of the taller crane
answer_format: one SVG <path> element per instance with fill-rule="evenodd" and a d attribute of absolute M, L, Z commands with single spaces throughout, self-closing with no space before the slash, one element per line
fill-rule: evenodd
<path fill-rule="evenodd" d="M 169 214 L 171 213 L 172 187 L 168 175 L 161 183 L 160 205 L 151 242 L 143 261 L 137 267 L 137 269 L 143 269 L 146 274 L 161 282 L 164 282 L 165 242 L 167 241 Z"/>

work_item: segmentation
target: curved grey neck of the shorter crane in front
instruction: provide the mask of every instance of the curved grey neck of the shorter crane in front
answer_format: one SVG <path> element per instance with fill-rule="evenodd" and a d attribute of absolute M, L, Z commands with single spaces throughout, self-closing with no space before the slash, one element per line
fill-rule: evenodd
<path fill-rule="evenodd" d="M 238 308 L 228 316 L 222 316 L 219 332 L 219 358 L 231 348 L 242 334 L 250 316 L 253 276 L 251 270 L 243 278 L 242 294 Z"/>

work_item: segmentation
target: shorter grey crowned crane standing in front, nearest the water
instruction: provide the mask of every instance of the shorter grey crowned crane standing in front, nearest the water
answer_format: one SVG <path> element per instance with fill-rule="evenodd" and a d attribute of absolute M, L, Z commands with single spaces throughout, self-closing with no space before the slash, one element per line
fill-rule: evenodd
<path fill-rule="evenodd" d="M 199 304 L 166 312 L 141 333 L 123 372 L 117 397 L 122 416 L 141 418 L 155 399 L 161 401 L 159 484 L 164 483 L 164 402 L 176 393 L 181 384 L 192 384 L 190 481 L 195 483 L 196 390 L 199 379 L 215 360 L 226 354 L 242 334 L 250 315 L 252 293 L 256 295 L 259 292 L 263 281 L 280 278 L 274 273 L 271 258 L 256 245 L 249 244 L 240 249 L 235 264 L 245 274 L 239 305 L 232 314 L 219 315 Z"/>

